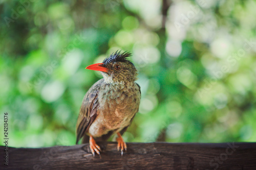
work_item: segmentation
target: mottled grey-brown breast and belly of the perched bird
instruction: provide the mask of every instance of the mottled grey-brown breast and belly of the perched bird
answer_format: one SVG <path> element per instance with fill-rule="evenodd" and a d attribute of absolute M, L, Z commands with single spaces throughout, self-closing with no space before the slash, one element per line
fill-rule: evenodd
<path fill-rule="evenodd" d="M 89 128 L 89 133 L 93 133 L 93 136 L 101 136 L 129 126 L 131 119 L 138 112 L 140 102 L 137 85 L 129 89 L 104 86 L 100 91 L 98 115 Z"/>

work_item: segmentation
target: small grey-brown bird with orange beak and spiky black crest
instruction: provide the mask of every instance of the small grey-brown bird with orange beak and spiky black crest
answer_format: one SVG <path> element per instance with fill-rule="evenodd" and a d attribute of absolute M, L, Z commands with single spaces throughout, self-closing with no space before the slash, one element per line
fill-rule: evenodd
<path fill-rule="evenodd" d="M 84 95 L 76 124 L 76 144 L 90 143 L 93 156 L 100 155 L 96 141 L 105 141 L 117 134 L 117 150 L 126 151 L 122 134 L 131 125 L 139 110 L 141 91 L 135 83 L 138 71 L 127 60 L 131 54 L 113 53 L 102 63 L 92 64 L 87 69 L 100 71 L 103 78 L 97 81 Z"/>

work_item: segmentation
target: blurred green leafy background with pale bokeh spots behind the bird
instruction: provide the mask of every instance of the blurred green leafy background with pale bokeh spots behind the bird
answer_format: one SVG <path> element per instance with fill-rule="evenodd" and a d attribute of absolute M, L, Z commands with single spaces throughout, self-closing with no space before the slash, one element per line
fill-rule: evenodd
<path fill-rule="evenodd" d="M 117 50 L 133 54 L 142 90 L 126 141 L 256 141 L 255 9 L 252 0 L 0 0 L 9 146 L 74 145 L 82 98 L 101 78 L 84 68 Z"/>

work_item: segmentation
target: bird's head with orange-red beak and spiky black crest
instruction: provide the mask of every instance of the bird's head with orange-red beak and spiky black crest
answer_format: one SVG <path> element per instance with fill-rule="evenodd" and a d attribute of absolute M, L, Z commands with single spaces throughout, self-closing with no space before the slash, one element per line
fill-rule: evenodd
<path fill-rule="evenodd" d="M 106 83 L 134 82 L 138 72 L 134 64 L 127 60 L 131 53 L 116 52 L 105 58 L 102 63 L 92 64 L 87 69 L 101 71 Z"/>

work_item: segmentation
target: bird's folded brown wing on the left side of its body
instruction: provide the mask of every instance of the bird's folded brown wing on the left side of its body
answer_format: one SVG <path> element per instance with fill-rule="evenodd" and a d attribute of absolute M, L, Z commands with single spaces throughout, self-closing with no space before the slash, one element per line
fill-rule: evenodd
<path fill-rule="evenodd" d="M 97 108 L 99 106 L 98 93 L 103 79 L 97 81 L 84 95 L 80 112 L 76 123 L 76 144 L 86 135 L 89 127 L 97 116 Z"/>

